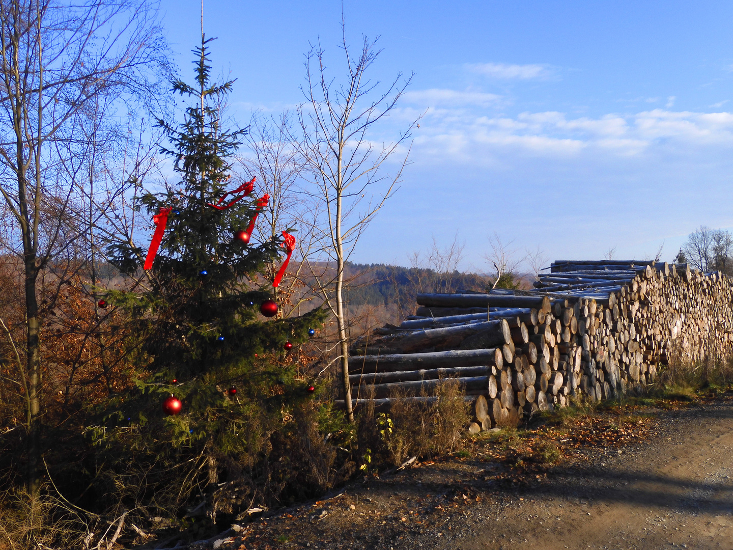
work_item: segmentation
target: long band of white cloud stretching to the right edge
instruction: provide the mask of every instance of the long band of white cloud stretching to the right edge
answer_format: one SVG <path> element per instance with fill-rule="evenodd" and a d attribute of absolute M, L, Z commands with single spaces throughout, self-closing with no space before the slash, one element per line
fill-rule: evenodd
<path fill-rule="evenodd" d="M 434 92 L 434 91 L 428 91 Z M 451 98 L 441 90 L 441 98 Z M 463 94 L 464 92 L 460 92 Z M 568 117 L 560 111 L 486 114 L 480 107 L 431 110 L 421 121 L 416 155 L 425 161 L 491 164 L 524 158 L 647 158 L 692 155 L 706 147 L 733 149 L 733 113 L 652 109 L 633 114 Z M 517 158 L 519 158 L 517 157 Z"/>

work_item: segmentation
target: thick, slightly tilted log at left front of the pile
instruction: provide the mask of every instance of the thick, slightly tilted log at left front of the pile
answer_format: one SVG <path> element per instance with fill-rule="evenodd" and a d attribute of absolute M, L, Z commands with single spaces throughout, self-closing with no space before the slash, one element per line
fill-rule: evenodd
<path fill-rule="evenodd" d="M 365 334 L 351 346 L 352 355 L 376 353 L 426 353 L 454 349 L 487 349 L 512 341 L 507 320 L 448 326 L 441 329 Z"/>

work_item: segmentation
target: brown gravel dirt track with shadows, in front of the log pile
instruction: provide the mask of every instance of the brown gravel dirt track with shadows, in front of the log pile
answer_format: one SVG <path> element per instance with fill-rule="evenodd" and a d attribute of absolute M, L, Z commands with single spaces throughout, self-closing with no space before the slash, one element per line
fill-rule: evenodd
<path fill-rule="evenodd" d="M 355 483 L 221 548 L 733 549 L 733 398 L 653 424 L 648 441 L 589 450 L 526 485 L 473 459 Z"/>

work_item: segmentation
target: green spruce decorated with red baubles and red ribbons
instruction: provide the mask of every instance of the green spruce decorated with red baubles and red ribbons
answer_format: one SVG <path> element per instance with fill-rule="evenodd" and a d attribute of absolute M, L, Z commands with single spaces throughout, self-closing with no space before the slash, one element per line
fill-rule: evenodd
<path fill-rule="evenodd" d="M 169 141 L 161 153 L 172 158 L 180 183 L 139 197 L 150 215 L 170 209 L 147 272 L 150 291 L 110 295 L 135 316 L 148 372 L 137 395 L 119 405 L 118 417 L 161 430 L 147 438 L 152 447 L 163 447 L 166 461 L 198 457 L 180 474 L 181 483 L 188 474 L 200 479 L 188 480 L 182 490 L 209 497 L 223 474 L 231 477 L 232 469 L 254 461 L 268 430 L 263 422 L 309 398 L 312 381 L 297 380 L 287 358 L 292 345 L 305 342 L 324 317 L 320 310 L 287 320 L 260 317 L 272 286 L 257 285 L 257 274 L 278 261 L 283 241 L 253 243 L 235 236 L 257 216 L 256 188 L 251 197 L 240 192 L 220 200 L 231 190 L 229 158 L 246 129 L 222 125 L 218 106 L 234 81 L 212 83 L 210 40 L 202 35 L 194 50 L 196 84 L 174 83 L 174 92 L 191 100 L 183 122 L 158 120 Z M 110 252 L 128 274 L 141 267 L 141 249 L 117 245 Z M 166 416 L 161 403 L 171 395 L 181 410 Z"/>

